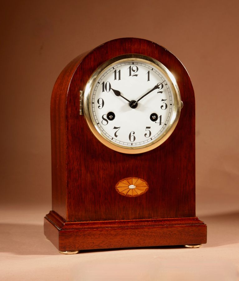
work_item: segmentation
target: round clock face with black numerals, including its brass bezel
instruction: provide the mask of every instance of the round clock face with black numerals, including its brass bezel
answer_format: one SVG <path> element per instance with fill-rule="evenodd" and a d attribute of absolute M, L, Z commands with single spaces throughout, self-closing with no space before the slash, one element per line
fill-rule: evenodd
<path fill-rule="evenodd" d="M 99 67 L 84 93 L 84 114 L 99 141 L 124 153 L 141 153 L 164 142 L 181 110 L 174 76 L 142 55 L 114 58 Z"/>

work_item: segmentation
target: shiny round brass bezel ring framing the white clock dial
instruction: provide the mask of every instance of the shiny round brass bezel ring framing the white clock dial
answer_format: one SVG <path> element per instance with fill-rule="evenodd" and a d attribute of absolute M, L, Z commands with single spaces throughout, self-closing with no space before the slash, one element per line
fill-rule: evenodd
<path fill-rule="evenodd" d="M 98 80 L 99 76 L 101 76 L 105 70 L 105 68 L 110 67 L 111 65 L 115 64 L 116 62 L 127 62 L 130 60 L 136 60 L 136 61 L 144 61 L 147 64 L 152 65 L 153 67 L 157 68 L 160 72 L 162 72 L 170 81 L 171 88 L 172 88 L 172 94 L 174 96 L 174 106 L 173 106 L 173 113 L 172 118 L 170 119 L 170 123 L 167 126 L 166 130 L 163 132 L 162 135 L 160 135 L 155 141 L 150 142 L 148 144 L 137 146 L 137 147 L 126 147 L 119 144 L 116 144 L 115 142 L 110 141 L 107 139 L 104 134 L 99 130 L 97 125 L 94 122 L 93 117 L 91 116 L 90 111 L 90 97 L 93 92 L 93 85 L 95 81 Z M 174 78 L 173 74 L 159 61 L 153 59 L 152 57 L 148 57 L 145 55 L 140 54 L 126 54 L 121 55 L 117 57 L 113 57 L 112 59 L 109 59 L 108 61 L 104 62 L 102 65 L 100 65 L 90 76 L 84 90 L 84 96 L 83 96 L 83 112 L 85 120 L 88 124 L 88 127 L 90 131 L 93 133 L 93 135 L 104 145 L 109 147 L 112 150 L 127 153 L 127 154 L 137 154 L 137 153 L 143 153 L 146 151 L 150 151 L 159 145 L 161 145 L 164 141 L 167 140 L 167 138 L 172 134 L 174 131 L 181 112 L 181 96 L 179 87 L 177 85 L 176 79 Z M 174 116 L 173 116 L 174 115 Z"/>

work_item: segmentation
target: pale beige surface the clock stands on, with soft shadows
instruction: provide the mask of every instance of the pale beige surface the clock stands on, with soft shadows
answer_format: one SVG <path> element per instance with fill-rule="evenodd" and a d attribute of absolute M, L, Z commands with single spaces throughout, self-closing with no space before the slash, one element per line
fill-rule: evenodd
<path fill-rule="evenodd" d="M 199 249 L 150 247 L 62 255 L 43 234 L 48 209 L 2 207 L 0 280 L 238 280 L 239 213 L 201 216 L 208 224 L 208 243 Z"/>

